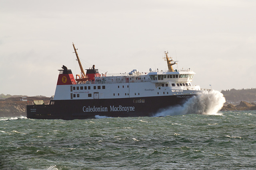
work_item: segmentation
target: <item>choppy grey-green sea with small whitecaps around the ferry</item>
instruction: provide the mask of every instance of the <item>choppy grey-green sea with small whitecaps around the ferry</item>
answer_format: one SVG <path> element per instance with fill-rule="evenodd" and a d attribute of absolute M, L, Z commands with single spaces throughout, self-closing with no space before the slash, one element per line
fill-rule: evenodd
<path fill-rule="evenodd" d="M 256 169 L 256 111 L 184 107 L 160 117 L 0 117 L 0 169 Z"/>

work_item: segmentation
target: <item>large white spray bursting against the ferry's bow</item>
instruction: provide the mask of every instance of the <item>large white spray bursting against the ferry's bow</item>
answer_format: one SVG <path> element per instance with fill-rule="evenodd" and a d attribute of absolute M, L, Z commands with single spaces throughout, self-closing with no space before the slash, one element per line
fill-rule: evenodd
<path fill-rule="evenodd" d="M 221 115 L 218 111 L 225 102 L 223 94 L 218 91 L 202 91 L 201 94 L 190 98 L 182 106 L 169 107 L 156 113 L 155 116 L 186 114 Z"/>

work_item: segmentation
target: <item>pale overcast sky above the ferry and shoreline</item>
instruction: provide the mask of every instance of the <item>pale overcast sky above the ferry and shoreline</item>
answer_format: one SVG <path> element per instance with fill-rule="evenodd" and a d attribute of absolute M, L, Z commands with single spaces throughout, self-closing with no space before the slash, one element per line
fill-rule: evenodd
<path fill-rule="evenodd" d="M 255 0 L 0 0 L 0 94 L 54 95 L 80 74 L 191 68 L 193 85 L 256 88 Z M 176 66 L 174 66 L 176 68 Z"/>

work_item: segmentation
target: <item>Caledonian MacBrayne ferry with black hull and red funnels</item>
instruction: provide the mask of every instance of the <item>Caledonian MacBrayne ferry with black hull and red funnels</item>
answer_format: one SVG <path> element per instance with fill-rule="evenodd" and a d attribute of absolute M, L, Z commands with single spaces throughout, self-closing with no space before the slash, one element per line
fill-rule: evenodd
<path fill-rule="evenodd" d="M 27 105 L 27 118 L 154 116 L 164 109 L 184 104 L 203 90 L 192 86 L 195 72 L 190 68 L 173 69 L 177 61 L 168 57 L 168 52 L 164 52 L 167 71 L 150 68 L 145 73 L 134 69 L 128 74 L 110 75 L 100 74 L 94 65 L 85 73 L 74 43 L 73 47 L 81 74 L 74 78 L 72 71 L 63 65 L 50 103 Z"/>

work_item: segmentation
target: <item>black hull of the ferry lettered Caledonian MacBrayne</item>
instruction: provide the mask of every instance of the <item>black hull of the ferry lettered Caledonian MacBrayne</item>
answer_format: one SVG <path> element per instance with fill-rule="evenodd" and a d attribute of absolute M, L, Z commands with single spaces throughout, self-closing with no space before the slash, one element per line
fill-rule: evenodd
<path fill-rule="evenodd" d="M 184 104 L 194 95 L 120 99 L 55 100 L 50 105 L 27 105 L 30 119 L 90 119 L 107 117 L 154 116 L 161 109 Z"/>

